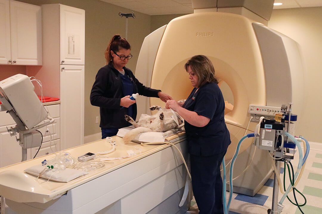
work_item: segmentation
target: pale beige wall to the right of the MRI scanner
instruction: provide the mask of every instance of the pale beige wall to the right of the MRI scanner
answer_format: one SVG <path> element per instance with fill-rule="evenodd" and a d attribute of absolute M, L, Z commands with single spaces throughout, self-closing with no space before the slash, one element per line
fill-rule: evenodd
<path fill-rule="evenodd" d="M 296 134 L 322 143 L 322 7 L 273 10 L 268 27 L 298 42 L 304 62 L 305 99 Z"/>

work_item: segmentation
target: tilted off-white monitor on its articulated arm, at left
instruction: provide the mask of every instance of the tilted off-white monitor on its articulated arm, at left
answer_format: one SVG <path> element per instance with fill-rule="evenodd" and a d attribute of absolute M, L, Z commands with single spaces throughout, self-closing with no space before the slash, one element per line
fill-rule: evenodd
<path fill-rule="evenodd" d="M 55 120 L 43 108 L 33 90 L 33 84 L 29 77 L 20 75 L 18 74 L 16 81 L 12 81 L 9 86 L 4 84 L 7 82 L 6 80 L 0 82 L 0 100 L 2 102 L 0 111 L 9 113 L 16 123 L 14 127 L 7 127 L 7 130 L 10 136 L 20 134 L 20 137 L 16 137 L 16 140 L 22 147 L 22 161 L 24 161 L 27 160 L 27 149 L 39 147 L 42 144 L 42 133 L 37 130 L 52 124 Z M 6 90 L 8 91 L 7 95 Z M 23 99 L 19 99 L 21 94 L 30 102 L 26 102 L 27 104 L 24 105 Z M 48 122 L 44 121 L 46 118 L 49 119 Z M 33 123 L 29 123 L 31 120 L 33 120 Z M 42 124 L 38 125 L 39 123 Z"/>

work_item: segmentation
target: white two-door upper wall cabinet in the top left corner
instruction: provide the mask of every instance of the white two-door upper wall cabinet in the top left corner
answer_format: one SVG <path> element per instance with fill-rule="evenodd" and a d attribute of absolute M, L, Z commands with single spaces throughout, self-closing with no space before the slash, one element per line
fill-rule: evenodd
<path fill-rule="evenodd" d="M 41 7 L 0 0 L 0 64 L 42 64 Z"/>

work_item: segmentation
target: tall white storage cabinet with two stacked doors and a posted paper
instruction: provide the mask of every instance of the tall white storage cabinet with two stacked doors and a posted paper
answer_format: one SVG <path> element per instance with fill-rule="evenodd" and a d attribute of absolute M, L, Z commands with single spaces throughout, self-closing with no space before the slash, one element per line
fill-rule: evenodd
<path fill-rule="evenodd" d="M 35 72 L 43 94 L 58 97 L 60 149 L 84 143 L 85 11 L 62 5 L 42 5 L 43 67 Z"/>

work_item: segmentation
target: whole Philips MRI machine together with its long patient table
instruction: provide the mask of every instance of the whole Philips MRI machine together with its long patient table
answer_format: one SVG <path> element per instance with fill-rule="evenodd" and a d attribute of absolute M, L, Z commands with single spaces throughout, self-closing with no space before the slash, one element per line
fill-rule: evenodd
<path fill-rule="evenodd" d="M 136 77 L 176 100 L 185 99 L 192 86 L 184 64 L 198 54 L 210 58 L 216 76 L 222 85 L 223 81 L 228 85 L 226 89 L 233 96 L 233 109 L 225 115 L 232 140 L 226 160 L 232 158 L 244 133 L 253 133 L 258 123 L 260 113 L 253 115 L 246 130 L 250 105 L 280 107 L 292 102 L 293 111 L 300 114 L 303 73 L 297 43 L 238 14 L 196 10 L 155 30 L 143 42 Z M 224 98 L 225 94 L 223 91 Z M 137 103 L 138 115 L 148 113 L 151 105 L 164 106 L 156 98 L 140 97 Z M 113 140 L 118 143 L 113 153 L 116 157 L 139 146 L 124 145 L 118 136 Z M 178 145 L 187 160 L 185 136 L 175 135 L 167 140 Z M 234 175 L 247 166 L 252 143 L 250 139 L 243 142 Z M 65 151 L 77 157 L 108 149 L 109 145 L 100 140 Z M 24 173 L 24 169 L 54 154 L 4 167 L 0 169 L 0 194 L 6 198 L 9 210 L 16 213 L 185 213 L 191 194 L 179 207 L 186 170 L 178 153 L 168 145 L 140 149 L 136 156 L 106 163 L 102 169 L 68 183 L 39 184 L 35 176 Z M 234 192 L 256 194 L 271 173 L 268 152 L 256 151 L 250 168 L 234 181 Z"/>

